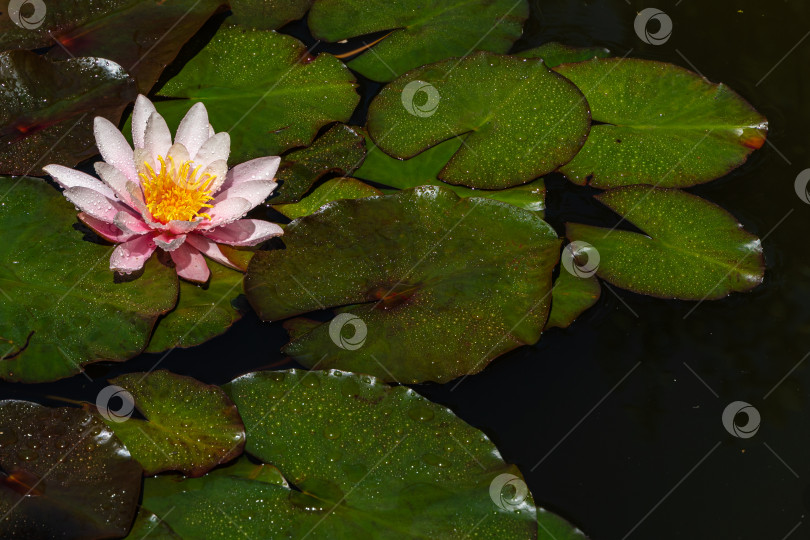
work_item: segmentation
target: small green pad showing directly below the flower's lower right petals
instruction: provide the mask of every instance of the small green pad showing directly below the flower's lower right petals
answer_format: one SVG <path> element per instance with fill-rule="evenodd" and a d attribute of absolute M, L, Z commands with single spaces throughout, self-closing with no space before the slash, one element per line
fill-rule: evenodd
<path fill-rule="evenodd" d="M 253 252 L 237 251 L 225 245 L 220 245 L 220 250 L 229 258 L 241 258 L 244 269 L 253 256 Z M 224 333 L 242 318 L 242 311 L 234 304 L 242 294 L 244 275 L 211 260 L 208 267 L 211 279 L 205 285 L 180 280 L 177 305 L 160 318 L 145 352 L 200 345 Z"/>

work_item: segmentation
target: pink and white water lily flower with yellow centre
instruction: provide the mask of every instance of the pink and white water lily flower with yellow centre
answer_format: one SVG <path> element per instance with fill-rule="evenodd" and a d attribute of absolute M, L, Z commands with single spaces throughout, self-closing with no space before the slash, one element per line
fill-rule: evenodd
<path fill-rule="evenodd" d="M 95 164 L 101 181 L 61 165 L 43 169 L 65 189 L 79 218 L 118 244 L 111 270 L 140 270 L 160 248 L 171 255 L 177 275 L 205 282 L 210 271 L 203 255 L 235 268 L 217 244 L 255 246 L 282 234 L 275 223 L 241 219 L 275 189 L 281 159 L 258 158 L 228 170 L 230 136 L 214 133 L 202 103 L 180 122 L 174 144 L 144 96 L 132 112 L 134 150 L 105 118 L 95 119 L 93 131 L 104 158 Z"/>

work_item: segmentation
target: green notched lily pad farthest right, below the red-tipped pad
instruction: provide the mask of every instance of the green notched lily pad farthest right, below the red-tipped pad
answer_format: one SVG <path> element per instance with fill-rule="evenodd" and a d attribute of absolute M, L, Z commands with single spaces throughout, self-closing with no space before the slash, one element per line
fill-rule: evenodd
<path fill-rule="evenodd" d="M 762 244 L 728 212 L 677 189 L 628 186 L 597 195 L 644 234 L 566 224 L 571 241 L 599 252 L 597 275 L 631 291 L 704 300 L 753 289 L 765 272 Z"/>

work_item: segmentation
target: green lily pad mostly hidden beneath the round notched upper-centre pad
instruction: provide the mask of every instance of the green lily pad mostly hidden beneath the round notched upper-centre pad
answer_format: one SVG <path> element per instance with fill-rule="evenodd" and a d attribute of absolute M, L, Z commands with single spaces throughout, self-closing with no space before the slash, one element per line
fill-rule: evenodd
<path fill-rule="evenodd" d="M 411 159 L 401 160 L 392 158 L 377 148 L 370 138 L 367 138 L 366 159 L 363 165 L 355 171 L 355 176 L 397 189 L 444 186 L 459 197 L 486 197 L 537 212 L 540 217 L 543 217 L 546 208 L 546 187 L 542 178 L 522 186 L 498 190 L 471 189 L 446 184 L 439 180 L 439 172 L 458 151 L 461 144 L 461 139 L 450 139 Z"/>

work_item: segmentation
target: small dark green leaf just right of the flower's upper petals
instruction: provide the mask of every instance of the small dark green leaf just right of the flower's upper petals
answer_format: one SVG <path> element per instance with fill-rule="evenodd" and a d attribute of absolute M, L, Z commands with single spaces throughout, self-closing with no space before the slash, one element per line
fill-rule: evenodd
<path fill-rule="evenodd" d="M 337 124 L 315 139 L 312 145 L 286 154 L 273 192 L 273 204 L 300 201 L 321 177 L 330 172 L 350 175 L 366 155 L 364 137 L 354 128 Z"/>

